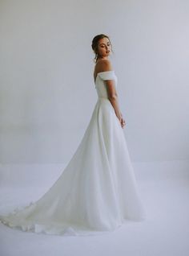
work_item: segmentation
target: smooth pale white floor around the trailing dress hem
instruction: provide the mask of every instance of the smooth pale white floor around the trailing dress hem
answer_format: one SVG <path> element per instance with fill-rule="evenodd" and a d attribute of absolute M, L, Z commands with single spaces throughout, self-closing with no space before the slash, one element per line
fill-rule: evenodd
<path fill-rule="evenodd" d="M 178 164 L 172 164 L 180 167 Z M 145 164 L 143 164 L 143 168 L 142 165 L 135 165 L 139 189 L 147 210 L 147 220 L 130 222 L 113 233 L 90 237 L 59 237 L 26 233 L 0 224 L 0 255 L 188 256 L 188 170 L 172 170 L 171 172 L 170 167 L 168 168 L 165 164 L 163 166 L 164 168 L 160 168 L 157 172 L 158 167 L 154 164 L 151 171 L 147 171 L 148 166 L 145 172 Z M 165 166 L 167 166 L 167 171 Z M 15 166 L 12 167 L 12 169 L 15 168 Z M 58 168 L 56 167 L 56 171 Z M 36 169 L 33 172 L 28 171 L 27 175 L 24 176 L 25 180 L 22 180 L 23 175 L 20 175 L 22 171 L 18 175 L 18 172 L 14 170 L 14 174 L 16 174 L 14 175 L 10 169 L 9 166 L 4 167 L 2 171 L 0 170 L 0 177 L 2 178 L 0 187 L 1 213 L 14 209 L 14 206 L 26 204 L 29 199 L 38 199 L 38 196 L 46 191 L 52 180 L 56 180 L 60 173 L 57 171 L 54 178 L 48 180 L 47 178 L 44 179 L 44 172 L 43 175 L 39 175 L 40 171 L 36 172 Z M 24 168 L 17 167 L 18 169 L 20 171 Z M 139 169 L 141 169 L 140 172 L 138 172 Z M 10 176 L 14 176 L 14 180 L 11 180 Z M 42 176 L 43 180 L 41 179 Z M 41 178 L 37 179 L 36 177 Z M 46 177 L 50 177 L 48 171 L 46 171 Z M 33 183 L 30 182 L 26 185 L 26 180 L 33 180 Z M 44 180 L 46 186 L 42 187 L 42 184 L 45 183 Z M 25 186 L 23 186 L 24 182 Z"/>

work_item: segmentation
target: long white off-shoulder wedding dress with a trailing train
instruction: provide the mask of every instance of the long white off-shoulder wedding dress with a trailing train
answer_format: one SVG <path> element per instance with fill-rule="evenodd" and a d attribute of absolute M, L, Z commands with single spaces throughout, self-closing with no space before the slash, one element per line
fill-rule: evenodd
<path fill-rule="evenodd" d="M 93 235 L 146 218 L 123 128 L 108 100 L 105 80 L 115 80 L 117 87 L 114 71 L 98 73 L 98 101 L 62 175 L 39 200 L 0 216 L 3 224 L 34 233 Z"/>

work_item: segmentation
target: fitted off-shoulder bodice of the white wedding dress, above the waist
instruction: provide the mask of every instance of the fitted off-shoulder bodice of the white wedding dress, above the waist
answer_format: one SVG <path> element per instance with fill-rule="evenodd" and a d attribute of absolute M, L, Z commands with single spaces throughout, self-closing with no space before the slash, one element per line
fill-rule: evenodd
<path fill-rule="evenodd" d="M 115 76 L 114 70 L 99 72 L 95 79 L 95 88 L 99 97 L 108 97 L 107 86 L 105 84 L 107 80 L 114 80 L 115 87 L 117 88 L 118 78 Z"/>

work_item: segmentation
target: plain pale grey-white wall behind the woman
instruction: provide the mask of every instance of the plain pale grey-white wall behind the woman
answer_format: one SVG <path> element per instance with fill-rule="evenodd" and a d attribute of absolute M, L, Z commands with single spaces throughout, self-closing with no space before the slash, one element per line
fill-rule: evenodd
<path fill-rule="evenodd" d="M 107 33 L 133 161 L 189 159 L 189 2 L 1 1 L 0 162 L 66 163 L 97 96 Z"/>

